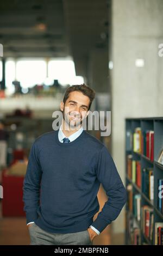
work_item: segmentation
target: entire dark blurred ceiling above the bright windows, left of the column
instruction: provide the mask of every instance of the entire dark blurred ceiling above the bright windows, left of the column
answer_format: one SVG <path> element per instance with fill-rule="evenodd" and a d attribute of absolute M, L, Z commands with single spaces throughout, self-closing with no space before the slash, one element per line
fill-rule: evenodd
<path fill-rule="evenodd" d="M 83 75 L 90 51 L 108 47 L 110 0 L 1 0 L 4 57 L 72 56 Z"/>

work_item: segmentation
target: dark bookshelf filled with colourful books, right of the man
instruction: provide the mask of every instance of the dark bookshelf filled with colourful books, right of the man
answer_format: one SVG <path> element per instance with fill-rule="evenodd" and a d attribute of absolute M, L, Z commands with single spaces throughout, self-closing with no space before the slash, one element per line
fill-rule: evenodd
<path fill-rule="evenodd" d="M 126 119 L 127 245 L 162 245 L 162 150 L 162 117 Z"/>

